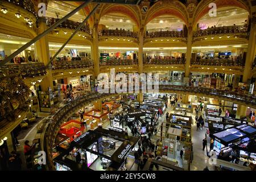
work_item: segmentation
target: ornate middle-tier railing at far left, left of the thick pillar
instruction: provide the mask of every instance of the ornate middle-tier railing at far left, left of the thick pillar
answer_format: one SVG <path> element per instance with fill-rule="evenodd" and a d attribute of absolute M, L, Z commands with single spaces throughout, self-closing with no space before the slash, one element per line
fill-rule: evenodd
<path fill-rule="evenodd" d="M 20 71 L 23 78 L 46 75 L 46 67 L 43 63 L 28 64 L 6 64 L 3 68 L 15 69 Z"/>

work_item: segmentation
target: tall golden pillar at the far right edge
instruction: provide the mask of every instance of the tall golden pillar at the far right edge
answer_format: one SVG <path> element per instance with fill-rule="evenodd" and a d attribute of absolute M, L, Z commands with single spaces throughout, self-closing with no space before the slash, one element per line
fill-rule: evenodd
<path fill-rule="evenodd" d="M 256 37 L 255 20 L 252 19 L 249 43 L 248 43 L 248 48 L 246 53 L 246 60 L 245 60 L 245 69 L 243 70 L 243 83 L 247 83 L 247 81 L 251 78 L 251 65 L 253 64 L 254 56 L 255 56 L 255 44 L 256 44 L 255 37 Z"/>

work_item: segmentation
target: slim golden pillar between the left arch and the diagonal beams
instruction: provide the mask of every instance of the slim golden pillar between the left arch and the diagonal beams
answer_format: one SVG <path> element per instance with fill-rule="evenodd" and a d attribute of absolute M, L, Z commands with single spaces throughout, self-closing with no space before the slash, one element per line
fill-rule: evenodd
<path fill-rule="evenodd" d="M 98 24 L 94 23 L 93 26 L 93 43 L 92 43 L 92 59 L 94 63 L 94 74 L 97 78 L 98 74 L 100 74 L 100 63 L 98 56 Z"/>

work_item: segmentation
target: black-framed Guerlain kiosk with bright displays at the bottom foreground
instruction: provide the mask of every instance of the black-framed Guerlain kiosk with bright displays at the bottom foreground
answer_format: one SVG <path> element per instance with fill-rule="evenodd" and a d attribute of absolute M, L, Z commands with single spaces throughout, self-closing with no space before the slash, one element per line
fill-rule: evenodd
<path fill-rule="evenodd" d="M 126 170 L 125 159 L 133 150 L 138 138 L 98 128 L 89 130 L 76 138 L 68 150 L 54 159 L 56 170 Z M 81 155 L 81 161 L 76 161 Z"/>

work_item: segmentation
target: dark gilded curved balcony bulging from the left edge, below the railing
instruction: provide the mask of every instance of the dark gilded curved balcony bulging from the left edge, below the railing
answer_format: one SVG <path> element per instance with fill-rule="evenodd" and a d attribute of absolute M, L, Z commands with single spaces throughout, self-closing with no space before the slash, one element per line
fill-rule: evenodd
<path fill-rule="evenodd" d="M 20 78 L 19 70 L 4 67 L 0 68 L 0 88 L 0 138 L 2 138 L 26 115 L 30 89 Z"/>

